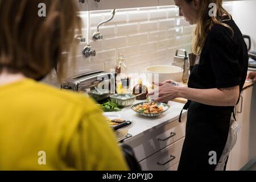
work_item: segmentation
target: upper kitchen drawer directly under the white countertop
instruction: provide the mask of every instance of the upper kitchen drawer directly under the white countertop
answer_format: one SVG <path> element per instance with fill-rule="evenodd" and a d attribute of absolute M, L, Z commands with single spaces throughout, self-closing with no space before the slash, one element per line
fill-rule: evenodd
<path fill-rule="evenodd" d="M 159 128 L 153 128 L 151 131 L 144 132 L 139 138 L 130 142 L 130 146 L 135 152 L 138 161 L 146 159 L 148 156 L 169 146 L 185 136 L 185 121 L 187 115 L 178 120 L 168 123 Z"/>

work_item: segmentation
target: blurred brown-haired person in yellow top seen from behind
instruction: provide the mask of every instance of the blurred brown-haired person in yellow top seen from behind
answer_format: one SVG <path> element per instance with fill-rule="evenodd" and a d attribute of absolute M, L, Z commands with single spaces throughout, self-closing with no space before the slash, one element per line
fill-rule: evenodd
<path fill-rule="evenodd" d="M 39 16 L 46 7 L 46 16 Z M 63 75 L 75 0 L 0 1 L 0 170 L 127 170 L 113 131 L 90 98 L 37 82 Z"/>

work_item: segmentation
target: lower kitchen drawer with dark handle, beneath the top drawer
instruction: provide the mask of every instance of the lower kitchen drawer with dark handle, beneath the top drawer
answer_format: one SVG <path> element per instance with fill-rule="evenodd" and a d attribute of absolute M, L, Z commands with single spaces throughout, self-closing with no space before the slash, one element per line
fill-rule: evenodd
<path fill-rule="evenodd" d="M 180 160 L 184 138 L 144 159 L 141 164 L 143 171 L 165 171 Z"/>

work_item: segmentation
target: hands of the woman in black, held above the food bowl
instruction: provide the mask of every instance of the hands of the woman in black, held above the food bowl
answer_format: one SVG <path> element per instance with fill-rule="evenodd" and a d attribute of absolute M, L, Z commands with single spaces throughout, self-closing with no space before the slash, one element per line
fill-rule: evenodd
<path fill-rule="evenodd" d="M 156 102 L 168 102 L 179 97 L 179 86 L 173 86 L 170 83 L 173 81 L 153 82 L 154 85 L 159 86 L 152 90 L 147 96 L 153 96 Z"/>

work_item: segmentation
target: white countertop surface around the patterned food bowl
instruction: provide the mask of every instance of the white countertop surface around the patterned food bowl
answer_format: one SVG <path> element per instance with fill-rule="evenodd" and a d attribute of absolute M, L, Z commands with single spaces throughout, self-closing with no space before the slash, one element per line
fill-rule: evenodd
<path fill-rule="evenodd" d="M 137 104 L 143 101 L 135 101 L 134 104 Z M 172 102 L 168 103 L 170 105 L 170 109 L 168 109 L 162 115 L 156 118 L 147 118 L 143 117 L 137 113 L 135 113 L 130 107 L 125 107 L 122 111 L 114 112 L 120 115 L 125 115 L 132 119 L 132 123 L 130 126 L 126 127 L 128 129 L 128 133 L 133 135 L 133 137 L 126 139 L 126 142 L 130 142 L 138 137 L 141 137 L 145 131 L 150 131 L 154 127 L 162 127 L 167 123 L 173 122 L 179 119 L 180 111 L 183 109 L 184 104 L 179 102 Z M 183 115 L 187 114 L 187 110 L 183 110 Z"/>

